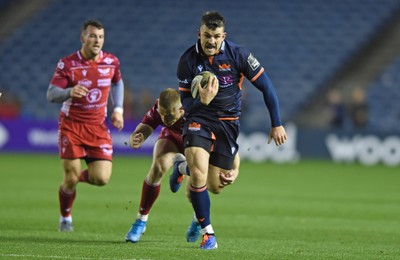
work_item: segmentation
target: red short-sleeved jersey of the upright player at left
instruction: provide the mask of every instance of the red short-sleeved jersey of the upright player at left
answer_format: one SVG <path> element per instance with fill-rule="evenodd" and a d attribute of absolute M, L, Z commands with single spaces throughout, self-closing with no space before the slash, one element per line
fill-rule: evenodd
<path fill-rule="evenodd" d="M 116 56 L 101 51 L 99 58 L 91 61 L 77 51 L 58 62 L 50 84 L 60 88 L 75 85 L 88 88 L 85 97 L 64 101 L 61 113 L 78 122 L 101 124 L 107 116 L 111 83 L 117 83 L 121 78 L 120 63 Z"/>

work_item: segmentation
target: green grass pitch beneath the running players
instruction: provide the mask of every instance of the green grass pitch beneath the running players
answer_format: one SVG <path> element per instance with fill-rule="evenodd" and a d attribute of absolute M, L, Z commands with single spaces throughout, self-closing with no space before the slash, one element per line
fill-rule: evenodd
<path fill-rule="evenodd" d="M 107 186 L 80 184 L 75 231 L 66 234 L 57 230 L 58 157 L 0 154 L 0 258 L 400 258 L 398 167 L 242 162 L 236 183 L 211 195 L 219 248 L 202 251 L 185 241 L 191 205 L 183 189 L 169 191 L 168 178 L 141 241 L 125 242 L 150 162 L 115 155 Z"/>

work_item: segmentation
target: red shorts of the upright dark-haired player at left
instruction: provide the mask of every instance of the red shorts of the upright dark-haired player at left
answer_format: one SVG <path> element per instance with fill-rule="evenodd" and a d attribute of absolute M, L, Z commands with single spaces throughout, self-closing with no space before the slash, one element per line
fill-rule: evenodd
<path fill-rule="evenodd" d="M 58 146 L 61 159 L 83 157 L 112 160 L 112 138 L 105 123 L 84 124 L 60 116 Z"/>

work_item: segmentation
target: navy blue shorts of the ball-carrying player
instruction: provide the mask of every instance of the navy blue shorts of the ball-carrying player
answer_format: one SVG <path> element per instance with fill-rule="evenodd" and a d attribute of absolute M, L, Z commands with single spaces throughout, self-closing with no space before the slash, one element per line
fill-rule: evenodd
<path fill-rule="evenodd" d="M 239 120 L 187 119 L 183 127 L 184 147 L 201 147 L 210 153 L 209 163 L 225 170 L 233 168 L 238 152 Z"/>

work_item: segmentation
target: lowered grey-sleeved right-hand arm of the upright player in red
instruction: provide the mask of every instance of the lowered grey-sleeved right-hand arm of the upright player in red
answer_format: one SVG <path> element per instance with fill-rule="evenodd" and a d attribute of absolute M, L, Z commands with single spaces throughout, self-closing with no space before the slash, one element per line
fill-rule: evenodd
<path fill-rule="evenodd" d="M 121 130 L 124 127 L 124 82 L 122 79 L 111 84 L 111 100 L 114 105 L 114 111 L 111 115 L 111 123 L 118 130 Z"/>

